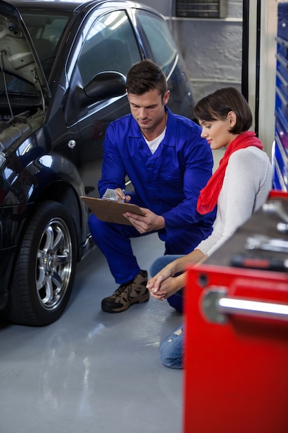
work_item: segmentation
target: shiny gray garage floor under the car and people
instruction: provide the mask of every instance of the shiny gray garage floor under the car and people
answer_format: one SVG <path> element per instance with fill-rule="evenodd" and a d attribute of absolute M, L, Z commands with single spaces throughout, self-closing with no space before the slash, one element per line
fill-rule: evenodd
<path fill-rule="evenodd" d="M 163 254 L 155 234 L 133 240 L 147 269 Z M 95 250 L 77 266 L 60 320 L 44 328 L 0 322 L 0 433 L 180 433 L 182 371 L 162 366 L 159 342 L 182 317 L 151 299 L 101 311 L 117 286 Z"/>

